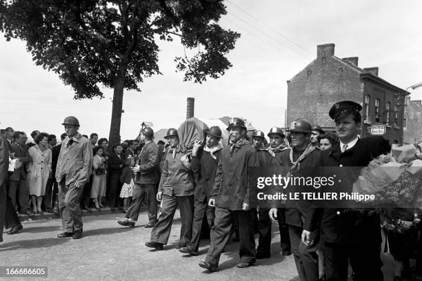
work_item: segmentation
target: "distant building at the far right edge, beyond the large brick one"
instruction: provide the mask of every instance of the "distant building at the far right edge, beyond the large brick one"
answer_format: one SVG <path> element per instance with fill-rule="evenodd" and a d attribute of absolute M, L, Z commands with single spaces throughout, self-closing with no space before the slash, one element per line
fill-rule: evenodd
<path fill-rule="evenodd" d="M 411 101 L 406 97 L 404 119 L 404 144 L 414 144 L 422 141 L 422 101 Z"/>

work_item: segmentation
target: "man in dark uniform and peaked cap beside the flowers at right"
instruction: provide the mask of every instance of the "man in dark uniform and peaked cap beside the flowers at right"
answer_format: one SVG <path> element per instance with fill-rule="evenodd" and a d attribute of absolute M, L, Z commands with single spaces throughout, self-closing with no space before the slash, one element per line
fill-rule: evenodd
<path fill-rule="evenodd" d="M 340 142 L 323 151 L 319 166 L 340 166 L 349 175 L 350 184 L 342 180 L 338 186 L 342 191 L 351 192 L 352 182 L 359 174 L 351 173 L 351 168 L 365 167 L 373 159 L 390 151 L 390 145 L 383 137 L 358 137 L 361 127 L 362 106 L 354 101 L 339 101 L 330 109 L 330 117 L 335 122 Z M 311 223 L 304 227 L 302 240 L 312 242 L 310 231 L 319 231 L 325 261 L 325 278 L 348 280 L 348 261 L 356 280 L 382 281 L 380 218 L 375 212 L 361 210 L 345 212 L 339 208 L 314 209 Z"/>

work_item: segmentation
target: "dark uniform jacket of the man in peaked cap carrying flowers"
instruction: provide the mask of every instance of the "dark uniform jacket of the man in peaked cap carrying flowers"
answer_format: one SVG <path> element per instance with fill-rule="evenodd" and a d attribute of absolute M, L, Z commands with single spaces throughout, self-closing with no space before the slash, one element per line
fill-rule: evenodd
<path fill-rule="evenodd" d="M 359 139 L 352 148 L 343 153 L 341 153 L 339 143 L 331 149 L 323 151 L 319 159 L 319 166 L 365 167 L 374 157 L 389 151 L 390 145 L 383 137 L 365 137 Z M 345 173 L 350 173 L 350 169 L 345 170 Z M 356 180 L 358 176 L 359 174 L 354 175 L 352 181 Z M 339 188 L 342 191 L 352 192 L 352 184 L 342 183 Z M 354 237 L 362 235 L 360 233 L 362 231 L 365 240 L 369 242 L 376 243 L 381 239 L 379 216 L 376 214 L 362 215 L 338 208 L 314 209 L 310 225 L 305 229 L 312 231 L 318 228 L 319 224 L 321 224 L 321 238 L 324 242 L 348 244 L 353 242 Z M 363 227 L 356 227 L 359 225 Z"/>

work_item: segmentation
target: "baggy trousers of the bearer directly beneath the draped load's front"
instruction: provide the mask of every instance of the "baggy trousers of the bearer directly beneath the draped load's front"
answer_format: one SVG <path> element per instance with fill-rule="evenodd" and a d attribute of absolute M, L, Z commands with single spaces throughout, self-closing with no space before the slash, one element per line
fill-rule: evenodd
<path fill-rule="evenodd" d="M 151 231 L 151 242 L 167 244 L 172 230 L 174 213 L 179 206 L 181 230 L 179 244 L 185 246 L 192 238 L 192 219 L 194 211 L 194 197 L 163 195 L 163 206 L 157 224 Z"/>

